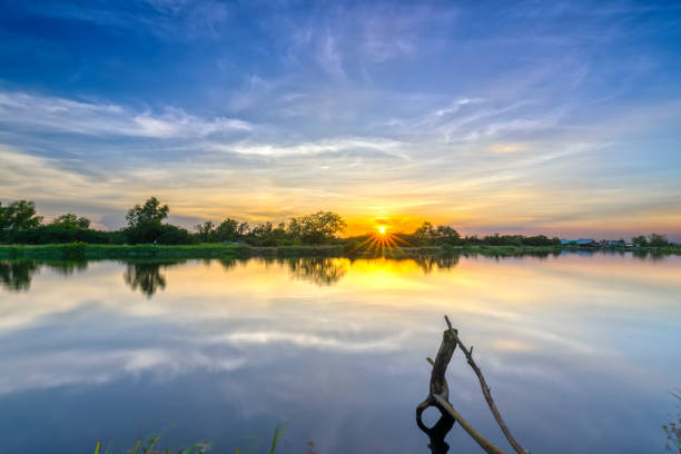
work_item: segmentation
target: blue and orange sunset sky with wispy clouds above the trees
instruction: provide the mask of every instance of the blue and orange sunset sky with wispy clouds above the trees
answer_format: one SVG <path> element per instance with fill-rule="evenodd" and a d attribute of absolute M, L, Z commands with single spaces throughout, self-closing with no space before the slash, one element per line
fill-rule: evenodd
<path fill-rule="evenodd" d="M 0 3 L 0 201 L 681 239 L 681 3 Z"/>

